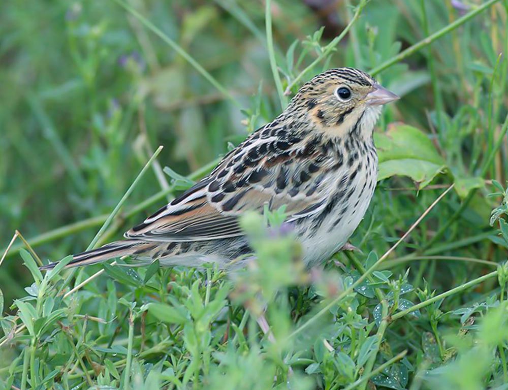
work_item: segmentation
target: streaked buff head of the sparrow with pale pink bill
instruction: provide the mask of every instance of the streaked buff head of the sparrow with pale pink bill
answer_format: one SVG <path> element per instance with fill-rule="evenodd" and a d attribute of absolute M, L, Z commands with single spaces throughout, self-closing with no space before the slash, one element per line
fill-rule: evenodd
<path fill-rule="evenodd" d="M 353 131 L 371 137 L 381 107 L 397 99 L 367 73 L 336 68 L 304 84 L 288 108 L 299 111 L 313 127 L 330 137 Z"/>

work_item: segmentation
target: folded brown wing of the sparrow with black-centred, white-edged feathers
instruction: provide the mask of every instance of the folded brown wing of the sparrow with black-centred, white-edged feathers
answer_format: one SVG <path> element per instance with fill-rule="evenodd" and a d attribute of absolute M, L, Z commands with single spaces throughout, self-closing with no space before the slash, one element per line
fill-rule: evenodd
<path fill-rule="evenodd" d="M 242 236 L 240 215 L 247 210 L 262 212 L 265 204 L 272 210 L 285 205 L 289 220 L 320 212 L 328 196 L 319 188 L 328 160 L 313 140 L 289 135 L 284 140 L 281 131 L 270 127 L 254 133 L 208 177 L 124 236 L 146 241 L 217 240 Z M 273 132 L 279 134 L 275 137 Z"/>

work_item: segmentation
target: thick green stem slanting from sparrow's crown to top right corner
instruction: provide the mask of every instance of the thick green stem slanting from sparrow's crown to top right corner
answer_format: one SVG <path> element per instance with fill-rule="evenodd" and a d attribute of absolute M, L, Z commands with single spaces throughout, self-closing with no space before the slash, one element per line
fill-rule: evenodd
<path fill-rule="evenodd" d="M 372 76 L 375 76 L 378 73 L 384 71 L 385 69 L 391 67 L 394 63 L 397 63 L 397 62 L 403 60 L 404 58 L 409 57 L 411 54 L 413 54 L 413 53 L 417 52 L 418 50 L 420 50 L 421 48 L 431 44 L 436 39 L 443 37 L 444 35 L 448 34 L 448 32 L 453 31 L 457 27 L 461 26 L 462 24 L 464 24 L 468 20 L 472 19 L 474 16 L 478 15 L 482 11 L 485 11 L 487 8 L 489 8 L 490 6 L 492 6 L 493 4 L 495 4 L 497 2 L 499 2 L 499 0 L 488 0 L 487 2 L 485 2 L 478 8 L 473 9 L 472 11 L 465 14 L 461 18 L 455 20 L 453 23 L 448 24 L 446 27 L 443 27 L 440 30 L 434 32 L 434 34 L 431 34 L 427 38 L 422 39 L 420 42 L 418 42 L 412 46 L 409 46 L 407 49 L 401 51 L 395 57 L 392 57 L 389 60 L 383 62 L 376 68 L 372 69 L 370 71 L 370 74 Z"/>

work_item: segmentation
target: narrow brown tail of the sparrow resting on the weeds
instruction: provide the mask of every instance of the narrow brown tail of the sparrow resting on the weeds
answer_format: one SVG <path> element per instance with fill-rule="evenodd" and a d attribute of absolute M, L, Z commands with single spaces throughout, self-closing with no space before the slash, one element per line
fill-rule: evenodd
<path fill-rule="evenodd" d="M 104 245 L 97 249 L 87 250 L 73 255 L 73 259 L 66 266 L 71 267 L 82 267 L 91 264 L 97 264 L 109 260 L 114 257 L 121 257 L 127 255 L 138 255 L 145 253 L 154 247 L 154 243 L 137 240 L 123 240 L 115 241 L 110 244 Z M 42 266 L 41 270 L 51 270 L 58 262 L 50 263 Z"/>

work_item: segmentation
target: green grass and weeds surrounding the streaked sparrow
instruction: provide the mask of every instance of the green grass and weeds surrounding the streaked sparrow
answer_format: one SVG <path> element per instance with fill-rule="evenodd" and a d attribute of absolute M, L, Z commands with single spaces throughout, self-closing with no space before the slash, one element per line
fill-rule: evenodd
<path fill-rule="evenodd" d="M 329 4 L 4 5 L 0 248 L 19 230 L 33 252 L 16 236 L 0 265 L 0 389 L 508 388 L 508 1 Z M 402 97 L 361 253 L 309 273 L 274 211 L 243 220 L 258 262 L 234 275 L 39 272 L 119 238 L 337 66 Z"/>

